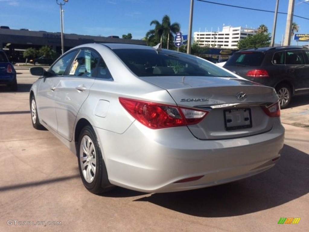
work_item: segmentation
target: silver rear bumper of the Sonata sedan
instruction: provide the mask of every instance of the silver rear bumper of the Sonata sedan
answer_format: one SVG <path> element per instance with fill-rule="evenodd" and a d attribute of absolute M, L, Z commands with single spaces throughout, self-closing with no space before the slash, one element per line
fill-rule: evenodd
<path fill-rule="evenodd" d="M 239 180 L 273 167 L 284 144 L 272 130 L 230 140 L 198 140 L 187 127 L 151 130 L 134 122 L 124 134 L 95 128 L 109 181 L 143 192 L 172 192 Z M 185 178 L 202 178 L 175 183 Z"/>

